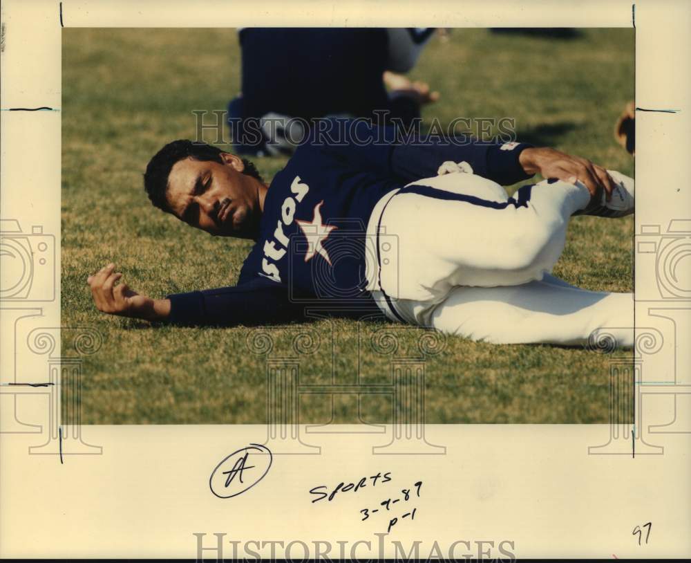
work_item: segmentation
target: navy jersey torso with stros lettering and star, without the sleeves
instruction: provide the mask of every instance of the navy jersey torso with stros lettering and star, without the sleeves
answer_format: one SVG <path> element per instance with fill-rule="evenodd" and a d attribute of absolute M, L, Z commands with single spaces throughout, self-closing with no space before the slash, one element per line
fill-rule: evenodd
<path fill-rule="evenodd" d="M 286 284 L 291 295 L 357 299 L 367 285 L 370 214 L 398 187 L 401 180 L 384 162 L 367 162 L 347 150 L 299 147 L 269 187 L 260 236 L 238 283 L 263 277 Z"/>

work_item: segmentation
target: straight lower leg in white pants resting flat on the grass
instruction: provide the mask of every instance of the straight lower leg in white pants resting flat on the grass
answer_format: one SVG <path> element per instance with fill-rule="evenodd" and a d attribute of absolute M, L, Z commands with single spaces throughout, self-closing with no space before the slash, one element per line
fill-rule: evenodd
<path fill-rule="evenodd" d="M 513 287 L 459 287 L 419 324 L 494 344 L 586 344 L 598 333 L 634 344 L 631 293 L 587 291 L 550 277 Z M 416 323 L 417 324 L 417 323 Z"/>

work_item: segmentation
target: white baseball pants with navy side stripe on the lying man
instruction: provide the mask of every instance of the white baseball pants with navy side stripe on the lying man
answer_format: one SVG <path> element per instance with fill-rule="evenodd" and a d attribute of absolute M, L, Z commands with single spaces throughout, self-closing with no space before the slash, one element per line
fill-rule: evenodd
<path fill-rule="evenodd" d="M 370 236 L 386 232 L 378 267 L 368 267 L 372 295 L 391 320 L 473 340 L 579 345 L 600 332 L 630 347 L 631 293 L 587 291 L 549 275 L 571 214 L 589 200 L 578 182 L 542 181 L 509 198 L 473 174 L 417 181 L 372 213 Z"/>

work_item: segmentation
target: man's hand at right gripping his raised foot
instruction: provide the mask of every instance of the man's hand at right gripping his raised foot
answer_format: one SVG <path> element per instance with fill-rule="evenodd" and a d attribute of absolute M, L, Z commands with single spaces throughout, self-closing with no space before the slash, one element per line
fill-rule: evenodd
<path fill-rule="evenodd" d="M 603 167 L 591 163 L 587 158 L 542 147 L 524 149 L 518 156 L 518 161 L 526 174 L 540 172 L 543 178 L 557 178 L 565 182 L 575 176 L 586 185 L 591 196 L 594 197 L 602 193 L 600 190 L 605 190 L 607 201 L 612 198 L 612 176 L 609 176 Z"/>

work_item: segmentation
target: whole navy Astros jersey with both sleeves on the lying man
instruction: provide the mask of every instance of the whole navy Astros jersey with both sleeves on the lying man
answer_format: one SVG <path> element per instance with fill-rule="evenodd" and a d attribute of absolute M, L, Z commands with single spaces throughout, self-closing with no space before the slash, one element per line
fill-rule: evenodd
<path fill-rule="evenodd" d="M 341 312 L 368 308 L 366 229 L 383 196 L 435 176 L 446 160 L 465 160 L 475 174 L 502 184 L 528 177 L 518 155 L 529 145 L 395 142 L 392 129 L 363 121 L 339 127 L 339 142 L 324 143 L 312 133 L 274 177 L 238 286 L 170 295 L 171 322 L 283 322 L 303 318 L 314 303 Z"/>

